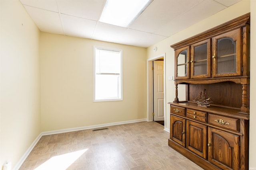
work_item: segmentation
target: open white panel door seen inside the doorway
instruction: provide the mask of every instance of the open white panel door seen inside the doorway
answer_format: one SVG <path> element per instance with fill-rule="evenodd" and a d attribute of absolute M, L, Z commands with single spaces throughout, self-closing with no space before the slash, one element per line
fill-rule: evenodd
<path fill-rule="evenodd" d="M 164 120 L 164 61 L 153 61 L 154 121 Z"/>

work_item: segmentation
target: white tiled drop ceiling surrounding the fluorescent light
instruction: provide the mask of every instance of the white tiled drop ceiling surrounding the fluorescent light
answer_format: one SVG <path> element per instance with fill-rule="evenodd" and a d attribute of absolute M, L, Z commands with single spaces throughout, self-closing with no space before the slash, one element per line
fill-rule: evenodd
<path fill-rule="evenodd" d="M 240 0 L 154 0 L 128 28 L 98 21 L 106 0 L 20 0 L 40 31 L 149 47 Z"/>

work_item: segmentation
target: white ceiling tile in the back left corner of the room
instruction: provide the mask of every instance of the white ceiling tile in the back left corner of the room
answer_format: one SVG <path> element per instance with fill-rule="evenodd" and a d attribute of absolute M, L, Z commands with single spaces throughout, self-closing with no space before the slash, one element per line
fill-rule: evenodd
<path fill-rule="evenodd" d="M 60 17 L 57 12 L 51 12 L 48 10 L 42 10 L 39 8 L 34 8 L 31 6 L 25 6 L 28 14 L 31 16 L 32 20 L 36 23 L 40 31 L 64 34 L 62 30 L 62 25 L 60 22 Z"/>

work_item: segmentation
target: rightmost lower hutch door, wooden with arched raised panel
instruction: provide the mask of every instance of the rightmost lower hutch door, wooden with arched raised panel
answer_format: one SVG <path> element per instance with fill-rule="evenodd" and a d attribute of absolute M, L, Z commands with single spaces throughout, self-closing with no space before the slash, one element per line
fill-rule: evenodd
<path fill-rule="evenodd" d="M 239 136 L 208 127 L 208 160 L 222 169 L 239 170 Z"/>

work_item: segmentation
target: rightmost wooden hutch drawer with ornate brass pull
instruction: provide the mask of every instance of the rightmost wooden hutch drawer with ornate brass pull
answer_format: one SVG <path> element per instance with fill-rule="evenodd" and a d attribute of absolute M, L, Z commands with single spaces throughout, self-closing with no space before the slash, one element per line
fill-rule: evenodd
<path fill-rule="evenodd" d="M 239 131 L 239 119 L 220 115 L 208 114 L 209 123 L 225 129 Z"/>

